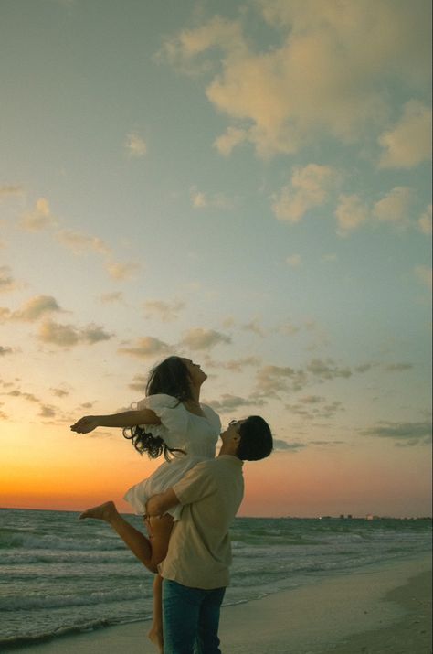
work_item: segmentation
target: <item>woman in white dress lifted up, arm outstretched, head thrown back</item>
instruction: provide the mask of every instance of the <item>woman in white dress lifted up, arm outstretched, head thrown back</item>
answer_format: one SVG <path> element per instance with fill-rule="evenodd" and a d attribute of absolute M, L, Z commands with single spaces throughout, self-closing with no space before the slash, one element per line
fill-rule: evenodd
<path fill-rule="evenodd" d="M 209 406 L 199 402 L 204 381 L 206 374 L 199 365 L 190 359 L 169 357 L 151 371 L 146 397 L 138 402 L 135 411 L 87 415 L 70 427 L 78 434 L 88 434 L 97 427 L 122 427 L 123 435 L 132 440 L 141 454 L 146 452 L 151 458 L 164 454 L 165 463 L 125 495 L 132 508 L 144 516 L 149 538 L 124 520 L 111 501 L 80 515 L 82 519 L 108 522 L 153 573 L 158 572 L 158 563 L 165 558 L 174 520 L 179 519 L 181 508 L 172 509 L 171 515 L 147 518 L 147 500 L 173 486 L 198 461 L 215 456 L 221 423 Z M 126 433 L 128 429 L 130 434 Z M 161 589 L 162 580 L 157 575 L 153 584 L 153 628 L 149 638 L 162 652 Z"/>

